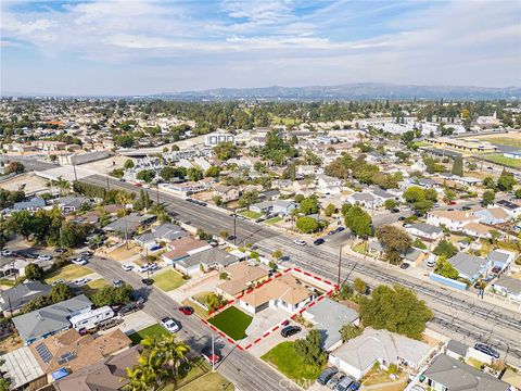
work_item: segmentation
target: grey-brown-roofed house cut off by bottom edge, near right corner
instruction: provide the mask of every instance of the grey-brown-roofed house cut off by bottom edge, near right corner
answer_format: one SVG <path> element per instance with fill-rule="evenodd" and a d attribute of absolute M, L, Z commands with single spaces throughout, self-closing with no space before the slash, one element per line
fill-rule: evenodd
<path fill-rule="evenodd" d="M 440 354 L 423 374 L 433 390 L 507 391 L 509 386 L 457 358 Z"/>

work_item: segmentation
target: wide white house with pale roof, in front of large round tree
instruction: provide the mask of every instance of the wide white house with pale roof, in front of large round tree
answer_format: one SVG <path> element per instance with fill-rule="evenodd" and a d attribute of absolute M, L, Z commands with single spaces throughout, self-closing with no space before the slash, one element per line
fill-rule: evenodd
<path fill-rule="evenodd" d="M 398 367 L 419 369 L 434 351 L 424 342 L 412 340 L 387 330 L 374 330 L 366 327 L 361 336 L 329 354 L 329 362 L 343 373 L 360 379 L 376 363 L 389 368 Z"/>

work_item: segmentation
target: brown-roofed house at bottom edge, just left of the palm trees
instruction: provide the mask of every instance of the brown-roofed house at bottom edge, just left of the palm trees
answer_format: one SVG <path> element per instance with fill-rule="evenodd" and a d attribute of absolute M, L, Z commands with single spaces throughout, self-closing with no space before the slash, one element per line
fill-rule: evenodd
<path fill-rule="evenodd" d="M 137 364 L 140 346 L 132 346 L 114 356 L 79 369 L 56 381 L 56 391 L 115 391 L 127 383 L 127 368 Z"/>

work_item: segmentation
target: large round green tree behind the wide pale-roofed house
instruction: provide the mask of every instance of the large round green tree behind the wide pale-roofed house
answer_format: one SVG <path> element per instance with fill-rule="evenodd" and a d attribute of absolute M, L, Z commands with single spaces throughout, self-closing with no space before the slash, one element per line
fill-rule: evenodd
<path fill-rule="evenodd" d="M 414 291 L 398 285 L 377 287 L 370 298 L 360 298 L 359 305 L 365 326 L 414 339 L 421 339 L 427 321 L 433 317 L 431 310 Z"/>

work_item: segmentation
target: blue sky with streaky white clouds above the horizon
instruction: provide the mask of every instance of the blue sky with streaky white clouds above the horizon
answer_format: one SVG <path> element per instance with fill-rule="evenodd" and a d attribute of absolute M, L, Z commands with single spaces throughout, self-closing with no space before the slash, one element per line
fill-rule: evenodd
<path fill-rule="evenodd" d="M 1 91 L 521 85 L 521 1 L 1 1 Z"/>

